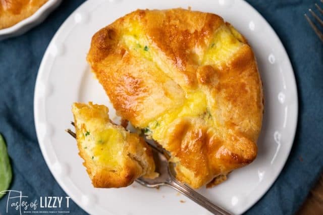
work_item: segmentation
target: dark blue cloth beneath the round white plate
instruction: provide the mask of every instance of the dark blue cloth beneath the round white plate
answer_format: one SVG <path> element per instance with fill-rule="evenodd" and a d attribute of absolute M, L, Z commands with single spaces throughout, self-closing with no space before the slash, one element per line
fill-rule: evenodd
<path fill-rule="evenodd" d="M 12 190 L 32 198 L 67 196 L 50 174 L 34 127 L 36 75 L 52 36 L 82 0 L 63 1 L 42 24 L 26 34 L 0 41 L 0 133 L 8 144 Z M 323 167 L 323 43 L 303 14 L 315 0 L 248 1 L 273 26 L 292 62 L 299 93 L 299 118 L 291 154 L 277 181 L 247 214 L 293 214 Z M 0 200 L 6 213 L 7 196 Z M 39 202 L 38 202 L 39 203 Z M 85 214 L 72 200 L 68 211 Z M 15 212 L 15 213 L 13 213 Z M 19 214 L 9 210 L 9 214 Z"/>

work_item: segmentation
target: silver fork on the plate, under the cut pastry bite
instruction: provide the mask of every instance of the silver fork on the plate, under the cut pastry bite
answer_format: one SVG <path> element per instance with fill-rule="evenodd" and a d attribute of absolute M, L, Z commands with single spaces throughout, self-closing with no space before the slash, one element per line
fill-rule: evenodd
<path fill-rule="evenodd" d="M 71 122 L 73 126 L 74 122 Z M 76 134 L 71 131 L 70 129 L 67 129 L 66 132 L 68 132 L 72 137 L 76 138 Z M 187 196 L 191 200 L 195 201 L 208 211 L 212 212 L 213 214 L 231 214 L 225 209 L 214 205 L 212 202 L 210 202 L 207 198 L 190 188 L 189 186 L 180 183 L 176 180 L 174 177 L 175 171 L 174 166 L 172 163 L 168 161 L 169 155 L 167 154 L 166 150 L 160 147 L 156 147 L 149 142 L 147 142 L 149 146 L 153 149 L 154 154 L 154 161 L 156 164 L 156 172 L 159 173 L 159 177 L 155 179 L 146 179 L 143 177 L 140 177 L 136 179 L 136 181 L 149 188 L 158 188 L 159 186 L 169 186 L 173 189 L 177 190 L 178 192 L 182 193 L 183 195 Z"/>

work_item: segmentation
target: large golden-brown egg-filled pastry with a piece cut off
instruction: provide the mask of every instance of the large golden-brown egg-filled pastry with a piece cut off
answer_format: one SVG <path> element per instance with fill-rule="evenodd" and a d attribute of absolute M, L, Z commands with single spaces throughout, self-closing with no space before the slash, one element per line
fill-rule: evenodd
<path fill-rule="evenodd" d="M 137 10 L 95 33 L 87 60 L 117 114 L 172 153 L 178 180 L 198 188 L 255 159 L 261 80 L 220 16 Z"/>

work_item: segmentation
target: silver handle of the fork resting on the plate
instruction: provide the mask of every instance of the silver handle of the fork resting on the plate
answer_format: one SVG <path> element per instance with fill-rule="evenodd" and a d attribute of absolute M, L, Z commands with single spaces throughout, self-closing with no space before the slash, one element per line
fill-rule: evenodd
<path fill-rule="evenodd" d="M 189 186 L 185 184 L 181 184 L 176 179 L 173 178 L 173 180 L 170 180 L 167 182 L 167 185 L 174 188 L 178 192 L 184 194 L 185 196 L 189 197 L 208 211 L 210 211 L 213 214 L 231 214 L 230 212 L 224 210 L 223 208 L 214 205 L 212 202 L 210 202 L 207 198 L 190 188 Z"/>

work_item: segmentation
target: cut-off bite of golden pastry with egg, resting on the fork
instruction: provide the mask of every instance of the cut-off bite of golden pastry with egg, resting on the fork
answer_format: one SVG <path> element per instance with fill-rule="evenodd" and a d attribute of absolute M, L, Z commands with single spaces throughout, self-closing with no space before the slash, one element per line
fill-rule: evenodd
<path fill-rule="evenodd" d="M 137 134 L 112 124 L 106 106 L 92 102 L 74 103 L 72 112 L 79 155 L 84 159 L 83 165 L 94 187 L 126 187 L 141 176 L 157 176 L 152 151 L 147 143 Z M 111 129 L 117 133 L 111 132 Z M 116 134 L 122 138 L 112 141 Z M 101 142 L 102 135 L 109 141 Z M 113 149 L 109 144 L 118 146 Z M 113 157 L 117 157 L 115 162 Z"/>

